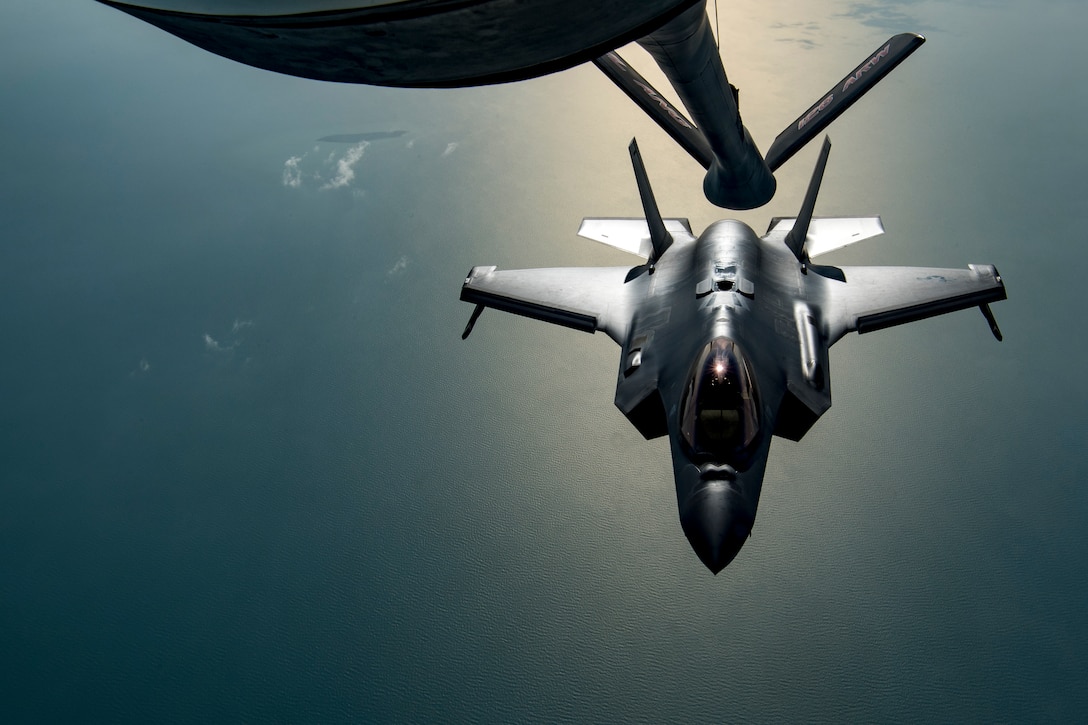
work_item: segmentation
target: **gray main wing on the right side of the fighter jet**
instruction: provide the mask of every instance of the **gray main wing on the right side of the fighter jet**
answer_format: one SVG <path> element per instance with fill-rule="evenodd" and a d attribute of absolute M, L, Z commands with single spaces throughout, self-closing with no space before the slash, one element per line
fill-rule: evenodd
<path fill-rule="evenodd" d="M 812 267 L 809 274 L 820 274 Z M 967 269 L 928 267 L 841 267 L 823 274 L 828 344 L 848 332 L 882 330 L 968 307 L 979 307 L 998 340 L 1001 334 L 989 303 L 1005 298 L 1005 285 L 992 265 Z"/>

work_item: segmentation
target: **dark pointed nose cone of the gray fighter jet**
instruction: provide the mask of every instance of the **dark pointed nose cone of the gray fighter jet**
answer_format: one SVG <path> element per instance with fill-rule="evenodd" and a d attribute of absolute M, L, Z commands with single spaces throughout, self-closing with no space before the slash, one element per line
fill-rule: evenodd
<path fill-rule="evenodd" d="M 753 520 L 726 481 L 707 481 L 700 487 L 680 515 L 691 548 L 714 574 L 740 552 L 752 533 Z"/>

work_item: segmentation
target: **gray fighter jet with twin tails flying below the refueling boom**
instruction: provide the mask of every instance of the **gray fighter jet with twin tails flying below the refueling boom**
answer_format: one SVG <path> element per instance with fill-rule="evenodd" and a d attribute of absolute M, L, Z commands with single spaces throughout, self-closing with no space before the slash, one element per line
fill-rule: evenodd
<path fill-rule="evenodd" d="M 714 574 L 752 533 L 772 435 L 799 441 L 831 405 L 828 351 L 868 333 L 1005 298 L 990 265 L 966 269 L 831 267 L 813 258 L 883 233 L 878 217 L 813 211 L 825 138 L 795 218 L 763 236 L 718 221 L 695 236 L 663 219 L 638 145 L 631 161 L 644 219 L 585 219 L 581 236 L 644 259 L 633 267 L 498 270 L 474 267 L 460 298 L 620 346 L 616 407 L 647 440 L 668 435 L 680 525 Z"/>

